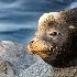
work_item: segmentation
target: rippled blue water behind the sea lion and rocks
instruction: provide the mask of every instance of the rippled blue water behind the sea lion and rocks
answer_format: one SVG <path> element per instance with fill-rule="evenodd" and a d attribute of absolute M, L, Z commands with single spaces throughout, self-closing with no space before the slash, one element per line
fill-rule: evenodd
<path fill-rule="evenodd" d="M 75 7 L 77 0 L 0 0 L 0 42 L 28 45 L 43 13 Z"/>

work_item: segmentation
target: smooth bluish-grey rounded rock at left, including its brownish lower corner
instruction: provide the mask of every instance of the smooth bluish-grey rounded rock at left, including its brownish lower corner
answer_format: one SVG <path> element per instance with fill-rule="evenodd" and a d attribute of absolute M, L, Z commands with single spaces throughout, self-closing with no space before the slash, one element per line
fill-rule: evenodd
<path fill-rule="evenodd" d="M 35 63 L 34 56 L 29 54 L 21 44 L 2 41 L 0 43 L 0 74 L 19 75 Z M 0 77 L 2 77 L 0 76 Z"/>

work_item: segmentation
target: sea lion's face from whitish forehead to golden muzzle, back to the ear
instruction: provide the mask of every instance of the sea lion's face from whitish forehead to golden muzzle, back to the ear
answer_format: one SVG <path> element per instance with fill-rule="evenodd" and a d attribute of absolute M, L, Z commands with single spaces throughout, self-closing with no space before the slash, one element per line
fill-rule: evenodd
<path fill-rule="evenodd" d="M 28 48 L 52 65 L 65 63 L 64 57 L 73 54 L 69 48 L 73 46 L 70 34 L 74 29 L 61 18 L 61 13 L 46 13 L 40 18 L 38 29 Z"/>

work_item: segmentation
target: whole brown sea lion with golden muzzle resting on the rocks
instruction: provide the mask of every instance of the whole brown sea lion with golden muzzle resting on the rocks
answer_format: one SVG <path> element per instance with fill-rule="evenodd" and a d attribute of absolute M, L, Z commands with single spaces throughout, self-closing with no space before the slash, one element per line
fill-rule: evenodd
<path fill-rule="evenodd" d="M 77 8 L 43 14 L 28 50 L 52 66 L 76 65 L 74 61 L 77 58 Z"/>

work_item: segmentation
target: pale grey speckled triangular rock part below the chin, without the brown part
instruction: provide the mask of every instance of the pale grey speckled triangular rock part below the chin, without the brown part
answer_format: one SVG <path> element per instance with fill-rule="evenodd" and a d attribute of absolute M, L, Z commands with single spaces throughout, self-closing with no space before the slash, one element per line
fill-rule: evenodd
<path fill-rule="evenodd" d="M 52 66 L 46 64 L 43 59 L 25 69 L 19 77 L 53 77 Z"/>

